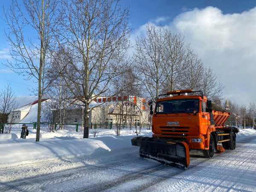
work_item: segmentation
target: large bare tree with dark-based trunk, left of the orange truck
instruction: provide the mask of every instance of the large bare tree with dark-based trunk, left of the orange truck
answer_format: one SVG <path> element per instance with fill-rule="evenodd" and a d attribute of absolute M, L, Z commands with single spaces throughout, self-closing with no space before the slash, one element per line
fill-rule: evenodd
<path fill-rule="evenodd" d="M 63 50 L 70 49 L 70 61 L 60 71 L 84 104 L 84 138 L 89 134 L 90 102 L 110 91 L 111 80 L 122 72 L 131 33 L 129 14 L 119 0 L 62 1 L 58 38 Z"/>

